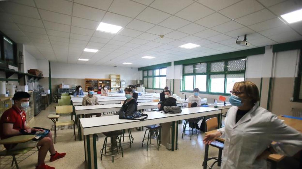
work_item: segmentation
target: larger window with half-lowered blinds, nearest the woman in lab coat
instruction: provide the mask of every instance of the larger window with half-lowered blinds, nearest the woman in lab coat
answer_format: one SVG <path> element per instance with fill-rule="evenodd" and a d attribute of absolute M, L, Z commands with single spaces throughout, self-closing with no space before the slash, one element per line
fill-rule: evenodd
<path fill-rule="evenodd" d="M 244 81 L 245 69 L 245 58 L 183 65 L 182 90 L 229 95 L 234 83 Z"/>

